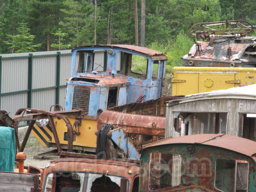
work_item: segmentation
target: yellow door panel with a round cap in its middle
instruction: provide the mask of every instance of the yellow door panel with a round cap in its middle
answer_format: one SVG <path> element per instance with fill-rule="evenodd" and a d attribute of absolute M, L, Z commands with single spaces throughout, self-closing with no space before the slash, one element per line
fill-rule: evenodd
<path fill-rule="evenodd" d="M 234 73 L 199 73 L 199 93 L 235 87 L 235 83 L 226 83 L 233 80 Z"/>

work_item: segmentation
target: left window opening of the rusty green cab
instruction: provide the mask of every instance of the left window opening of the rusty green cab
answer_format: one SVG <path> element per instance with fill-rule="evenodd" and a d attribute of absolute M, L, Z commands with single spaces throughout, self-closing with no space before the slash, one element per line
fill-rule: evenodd
<path fill-rule="evenodd" d="M 151 191 L 180 185 L 181 156 L 171 153 L 150 154 L 149 189 Z"/>

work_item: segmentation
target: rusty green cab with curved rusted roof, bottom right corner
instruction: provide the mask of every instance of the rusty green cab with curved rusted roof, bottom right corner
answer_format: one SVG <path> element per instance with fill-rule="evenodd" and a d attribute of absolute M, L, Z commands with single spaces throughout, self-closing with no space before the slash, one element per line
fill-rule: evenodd
<path fill-rule="evenodd" d="M 255 191 L 255 149 L 256 142 L 225 134 L 149 144 L 141 154 L 139 191 Z"/>

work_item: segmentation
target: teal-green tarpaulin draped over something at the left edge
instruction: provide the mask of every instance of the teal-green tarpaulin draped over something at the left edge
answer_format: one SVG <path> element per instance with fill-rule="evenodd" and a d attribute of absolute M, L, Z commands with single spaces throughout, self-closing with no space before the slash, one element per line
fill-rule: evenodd
<path fill-rule="evenodd" d="M 13 171 L 15 161 L 15 130 L 0 127 L 0 171 Z"/>

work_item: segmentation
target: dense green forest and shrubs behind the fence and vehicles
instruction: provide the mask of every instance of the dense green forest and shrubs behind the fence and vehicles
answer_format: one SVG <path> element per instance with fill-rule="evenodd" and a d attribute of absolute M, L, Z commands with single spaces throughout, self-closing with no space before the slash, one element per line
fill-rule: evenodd
<path fill-rule="evenodd" d="M 1 0 L 0 53 L 59 50 L 69 45 L 135 44 L 135 34 L 140 40 L 140 31 L 145 27 L 146 46 L 166 52 L 170 71 L 172 66 L 180 65 L 180 57 L 193 44 L 187 35 L 193 24 L 244 19 L 256 25 L 254 1 L 147 0 L 145 26 L 141 24 L 141 1 L 137 0 L 137 9 L 134 2 Z M 135 15 L 138 15 L 138 33 L 135 33 Z M 27 40 L 17 43 L 21 23 L 23 38 Z"/>

